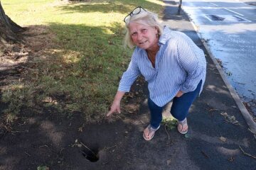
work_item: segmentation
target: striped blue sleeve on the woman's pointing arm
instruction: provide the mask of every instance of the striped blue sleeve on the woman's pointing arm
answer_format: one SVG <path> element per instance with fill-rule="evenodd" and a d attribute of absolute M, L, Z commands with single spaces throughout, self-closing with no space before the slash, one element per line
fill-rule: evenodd
<path fill-rule="evenodd" d="M 139 67 L 136 62 L 136 54 L 135 52 L 132 55 L 132 60 L 129 63 L 129 67 L 127 71 L 122 75 L 122 79 L 120 80 L 118 91 L 129 92 L 133 82 L 139 76 Z"/>

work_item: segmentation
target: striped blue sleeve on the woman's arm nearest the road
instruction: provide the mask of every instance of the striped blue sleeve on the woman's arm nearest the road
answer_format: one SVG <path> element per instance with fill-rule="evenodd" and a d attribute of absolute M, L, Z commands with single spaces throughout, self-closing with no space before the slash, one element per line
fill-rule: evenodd
<path fill-rule="evenodd" d="M 203 50 L 196 46 L 190 38 L 177 42 L 178 61 L 186 71 L 186 80 L 181 91 L 194 91 L 206 72 L 206 62 Z"/>

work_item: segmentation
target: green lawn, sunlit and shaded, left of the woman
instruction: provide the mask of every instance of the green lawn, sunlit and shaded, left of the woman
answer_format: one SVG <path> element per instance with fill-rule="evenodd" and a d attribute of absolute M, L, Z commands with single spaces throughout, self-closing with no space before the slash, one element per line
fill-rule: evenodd
<path fill-rule="evenodd" d="M 23 78 L 2 91 L 9 121 L 21 111 L 83 113 L 100 122 L 112 103 L 132 50 L 124 49 L 124 16 L 136 6 L 161 14 L 161 1 L 92 0 L 65 4 L 53 0 L 2 0 L 21 26 L 44 26 L 47 48 L 31 56 Z M 50 39 L 47 35 L 50 33 Z M 44 38 L 44 37 L 43 37 Z M 50 47 L 49 47 L 50 46 Z M 9 116 L 7 116 L 9 115 Z"/>

